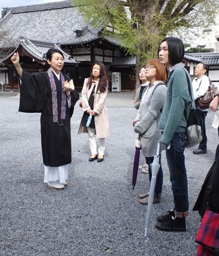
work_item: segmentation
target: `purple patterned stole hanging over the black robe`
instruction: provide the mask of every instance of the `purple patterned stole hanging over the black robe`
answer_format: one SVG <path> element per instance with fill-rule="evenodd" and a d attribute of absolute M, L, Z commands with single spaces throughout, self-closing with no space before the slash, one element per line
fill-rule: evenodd
<path fill-rule="evenodd" d="M 53 77 L 53 71 L 51 68 L 47 71 L 49 76 L 49 81 L 51 85 L 52 90 L 52 106 L 53 106 L 53 123 L 58 123 L 58 105 L 57 105 L 57 91 L 56 91 L 56 85 L 55 85 L 55 79 Z M 64 92 L 64 75 L 62 72 L 60 72 L 60 78 L 62 82 L 62 102 L 61 102 L 61 119 L 65 119 L 65 111 L 66 111 L 66 94 Z M 63 124 L 59 124 L 63 125 Z"/>

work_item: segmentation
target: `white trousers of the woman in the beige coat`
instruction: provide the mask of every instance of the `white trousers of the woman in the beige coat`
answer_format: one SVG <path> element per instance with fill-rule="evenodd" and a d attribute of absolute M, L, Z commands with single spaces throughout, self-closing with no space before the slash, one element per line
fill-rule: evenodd
<path fill-rule="evenodd" d="M 87 127 L 87 129 L 88 129 L 88 139 L 89 139 L 91 155 L 96 155 L 97 143 L 95 139 L 95 129 L 90 127 Z M 98 153 L 99 155 L 103 156 L 105 152 L 105 138 L 98 139 L 98 142 L 99 142 Z"/>

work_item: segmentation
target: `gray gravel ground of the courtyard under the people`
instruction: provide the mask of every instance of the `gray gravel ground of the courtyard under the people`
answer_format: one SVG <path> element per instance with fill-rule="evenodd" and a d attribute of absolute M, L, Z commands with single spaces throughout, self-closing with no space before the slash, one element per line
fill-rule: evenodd
<path fill-rule="evenodd" d="M 138 194 L 149 188 L 147 174 L 138 173 L 131 186 L 135 153 L 132 121 L 133 92 L 109 93 L 107 108 L 111 136 L 106 139 L 104 161 L 88 162 L 87 134 L 77 135 L 82 110 L 79 101 L 71 119 L 72 163 L 69 185 L 61 191 L 43 183 L 40 144 L 40 114 L 17 112 L 16 93 L 0 92 L 0 255 L 3 256 L 190 256 L 200 217 L 192 212 L 206 173 L 214 160 L 217 131 L 214 116 L 206 117 L 208 153 L 185 151 L 189 187 L 190 217 L 187 231 L 161 232 L 155 228 L 156 215 L 173 208 L 173 196 L 165 152 L 160 204 L 152 210 L 149 237 L 145 239 L 147 207 Z M 140 156 L 140 164 L 144 157 Z"/>

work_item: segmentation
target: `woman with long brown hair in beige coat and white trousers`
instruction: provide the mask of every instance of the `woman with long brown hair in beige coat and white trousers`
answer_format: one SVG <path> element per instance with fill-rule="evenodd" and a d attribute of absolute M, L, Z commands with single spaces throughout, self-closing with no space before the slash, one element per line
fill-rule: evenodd
<path fill-rule="evenodd" d="M 90 78 L 84 79 L 84 86 L 81 91 L 84 115 L 82 116 L 78 133 L 88 133 L 91 151 L 90 162 L 95 159 L 98 162 L 104 160 L 105 138 L 110 135 L 109 119 L 105 106 L 108 80 L 104 64 L 96 62 Z M 89 116 L 91 117 L 90 124 L 87 123 Z M 97 156 L 95 135 L 99 142 L 99 156 Z"/>

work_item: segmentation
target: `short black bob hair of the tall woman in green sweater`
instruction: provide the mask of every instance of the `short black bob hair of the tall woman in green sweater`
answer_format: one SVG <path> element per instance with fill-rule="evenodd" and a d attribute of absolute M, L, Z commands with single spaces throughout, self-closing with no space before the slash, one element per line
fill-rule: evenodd
<path fill-rule="evenodd" d="M 185 47 L 182 40 L 177 37 L 166 37 L 160 42 L 160 44 L 163 42 L 167 42 L 168 53 L 169 53 L 168 57 L 169 57 L 170 64 L 173 66 L 177 63 L 180 63 L 185 53 Z M 159 58 L 159 49 L 160 49 L 160 45 L 157 51 L 158 58 Z"/>

